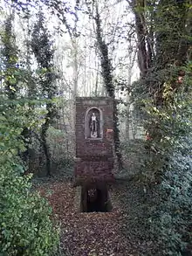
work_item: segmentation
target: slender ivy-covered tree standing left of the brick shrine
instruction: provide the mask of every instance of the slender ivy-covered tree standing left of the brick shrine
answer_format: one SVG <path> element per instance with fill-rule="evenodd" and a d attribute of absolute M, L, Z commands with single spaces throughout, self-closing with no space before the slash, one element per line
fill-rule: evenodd
<path fill-rule="evenodd" d="M 40 142 L 46 157 L 47 175 L 51 176 L 51 155 L 46 137 L 47 130 L 57 115 L 56 105 L 53 102 L 54 96 L 57 93 L 57 86 L 54 83 L 57 76 L 53 65 L 54 50 L 51 36 L 45 26 L 45 17 L 41 10 L 38 12 L 38 21 L 34 24 L 31 36 L 31 49 L 38 62 L 38 83 L 42 98 L 46 100 L 45 107 L 47 111 L 45 123 L 41 127 Z"/>

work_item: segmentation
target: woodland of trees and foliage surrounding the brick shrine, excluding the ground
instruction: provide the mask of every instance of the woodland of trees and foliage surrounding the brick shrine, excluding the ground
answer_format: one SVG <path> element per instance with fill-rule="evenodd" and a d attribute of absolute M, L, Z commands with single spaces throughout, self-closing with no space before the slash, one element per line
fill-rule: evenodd
<path fill-rule="evenodd" d="M 124 232 L 155 255 L 191 255 L 191 1 L 4 0 L 0 11 L 2 255 L 57 247 L 30 173 L 72 177 L 77 95 L 117 102 L 115 176 L 141 200 Z"/>

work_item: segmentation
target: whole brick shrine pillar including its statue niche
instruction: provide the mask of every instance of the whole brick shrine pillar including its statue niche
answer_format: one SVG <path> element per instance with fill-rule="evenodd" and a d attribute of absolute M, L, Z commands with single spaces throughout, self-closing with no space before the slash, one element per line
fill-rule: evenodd
<path fill-rule="evenodd" d="M 106 183 L 113 181 L 113 105 L 113 99 L 106 97 L 76 98 L 74 177 L 82 188 L 83 202 L 96 191 L 104 204 Z"/>

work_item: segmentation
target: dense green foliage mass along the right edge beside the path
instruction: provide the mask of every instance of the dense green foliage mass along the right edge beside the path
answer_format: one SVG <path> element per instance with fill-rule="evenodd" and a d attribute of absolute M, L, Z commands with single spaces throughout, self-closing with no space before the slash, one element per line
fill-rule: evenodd
<path fill-rule="evenodd" d="M 192 213 L 192 104 L 190 63 L 185 67 L 182 86 L 173 93 L 164 83 L 164 105 L 154 107 L 144 100 L 145 142 L 142 181 L 147 186 L 148 225 L 160 247 L 157 255 L 184 255 L 189 252 Z M 170 78 L 171 80 L 171 78 Z"/>

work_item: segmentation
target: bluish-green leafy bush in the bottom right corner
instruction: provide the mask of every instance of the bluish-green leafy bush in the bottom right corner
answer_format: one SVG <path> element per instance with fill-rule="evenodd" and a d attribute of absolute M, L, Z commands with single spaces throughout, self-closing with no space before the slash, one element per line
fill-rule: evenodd
<path fill-rule="evenodd" d="M 192 245 L 192 160 L 182 153 L 175 151 L 170 159 L 151 213 L 151 232 L 158 234 L 163 255 L 185 255 Z"/>

